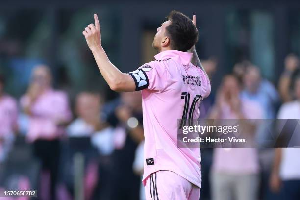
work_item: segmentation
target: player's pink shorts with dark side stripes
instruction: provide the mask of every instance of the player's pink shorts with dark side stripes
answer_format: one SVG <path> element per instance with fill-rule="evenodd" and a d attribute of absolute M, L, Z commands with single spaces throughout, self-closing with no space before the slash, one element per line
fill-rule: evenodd
<path fill-rule="evenodd" d="M 146 200 L 199 200 L 200 188 L 171 171 L 149 175 L 145 186 Z"/>

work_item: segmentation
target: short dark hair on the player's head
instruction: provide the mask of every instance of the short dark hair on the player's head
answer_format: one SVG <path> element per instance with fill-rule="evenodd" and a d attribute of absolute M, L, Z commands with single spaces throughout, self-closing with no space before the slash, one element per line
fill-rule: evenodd
<path fill-rule="evenodd" d="M 171 39 L 173 50 L 187 51 L 198 41 L 198 30 L 192 20 L 178 11 L 171 11 L 168 20 L 171 24 L 166 27 Z"/>

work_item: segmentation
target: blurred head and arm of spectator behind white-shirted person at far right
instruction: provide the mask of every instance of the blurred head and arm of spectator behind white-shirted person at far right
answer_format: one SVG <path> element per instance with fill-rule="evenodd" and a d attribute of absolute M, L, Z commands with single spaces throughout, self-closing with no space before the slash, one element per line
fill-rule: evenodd
<path fill-rule="evenodd" d="M 288 102 L 293 100 L 293 94 L 291 94 L 291 79 L 292 74 L 295 70 L 299 69 L 300 67 L 300 60 L 294 54 L 289 54 L 285 58 L 284 62 L 284 72 L 280 76 L 279 79 L 279 93 L 283 102 Z"/>

